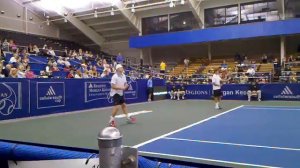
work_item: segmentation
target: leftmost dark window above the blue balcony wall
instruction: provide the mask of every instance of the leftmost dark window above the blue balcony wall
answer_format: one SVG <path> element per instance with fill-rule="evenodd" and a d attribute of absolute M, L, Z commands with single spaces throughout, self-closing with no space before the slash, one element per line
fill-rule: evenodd
<path fill-rule="evenodd" d="M 168 15 L 143 18 L 143 35 L 168 32 Z"/>

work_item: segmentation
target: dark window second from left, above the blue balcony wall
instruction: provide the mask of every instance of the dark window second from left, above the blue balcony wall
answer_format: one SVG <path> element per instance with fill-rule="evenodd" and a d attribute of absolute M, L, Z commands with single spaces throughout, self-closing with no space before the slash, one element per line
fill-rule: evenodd
<path fill-rule="evenodd" d="M 198 21 L 192 12 L 176 13 L 170 15 L 170 31 L 184 31 L 199 29 Z"/>

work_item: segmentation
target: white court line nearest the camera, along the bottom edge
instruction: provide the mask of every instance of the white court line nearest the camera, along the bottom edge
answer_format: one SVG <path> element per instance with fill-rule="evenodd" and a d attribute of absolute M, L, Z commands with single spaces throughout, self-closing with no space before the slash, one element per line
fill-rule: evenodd
<path fill-rule="evenodd" d="M 191 156 L 181 156 L 181 155 L 171 155 L 171 154 L 164 154 L 164 153 L 155 153 L 155 152 L 144 152 L 139 151 L 140 154 L 150 154 L 154 156 L 167 156 L 167 157 L 174 157 L 174 158 L 182 158 L 182 159 L 192 159 L 198 161 L 207 161 L 207 162 L 215 162 L 215 163 L 225 163 L 225 164 L 232 164 L 232 165 L 239 165 L 239 166 L 250 166 L 250 167 L 261 167 L 261 168 L 279 168 L 274 166 L 266 166 L 266 165 L 257 165 L 257 164 L 250 164 L 250 163 L 241 163 L 241 162 L 231 162 L 231 161 L 224 161 L 224 160 L 216 160 L 216 159 L 208 159 L 208 158 L 197 158 Z"/>

